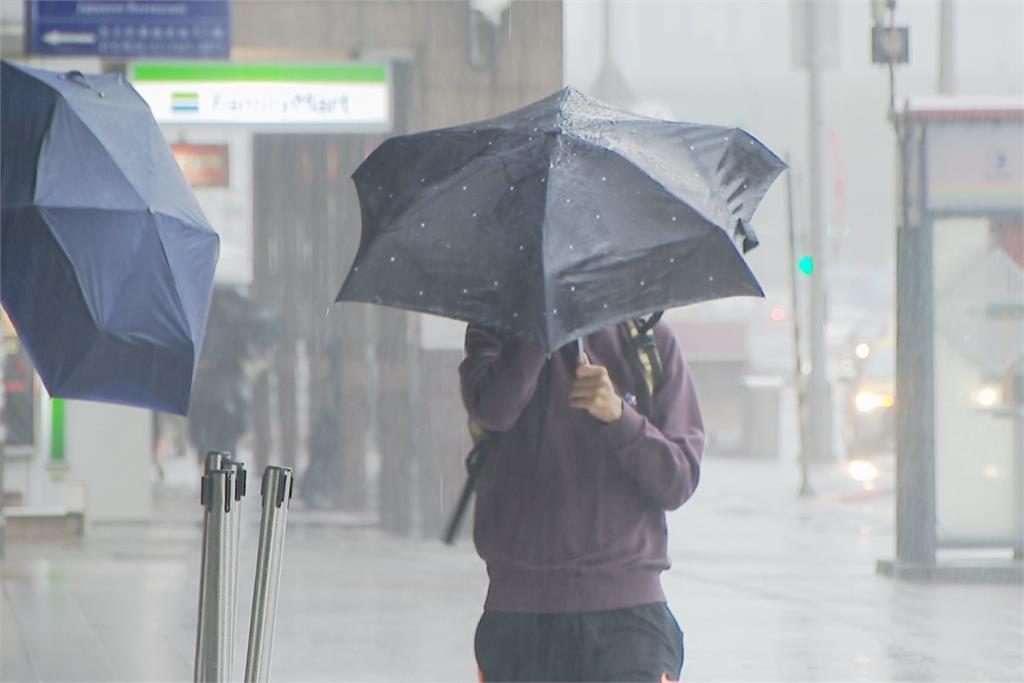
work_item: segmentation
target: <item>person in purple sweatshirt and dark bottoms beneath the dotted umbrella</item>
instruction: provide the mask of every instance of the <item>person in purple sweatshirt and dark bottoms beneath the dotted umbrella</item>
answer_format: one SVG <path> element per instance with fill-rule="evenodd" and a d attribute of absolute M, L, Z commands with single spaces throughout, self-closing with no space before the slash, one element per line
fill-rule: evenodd
<path fill-rule="evenodd" d="M 460 368 L 492 432 L 474 541 L 490 586 L 476 631 L 484 681 L 677 680 L 683 634 L 666 604 L 666 511 L 695 490 L 703 425 L 672 332 L 652 331 L 660 386 L 645 393 L 629 331 L 550 356 L 470 326 Z"/>

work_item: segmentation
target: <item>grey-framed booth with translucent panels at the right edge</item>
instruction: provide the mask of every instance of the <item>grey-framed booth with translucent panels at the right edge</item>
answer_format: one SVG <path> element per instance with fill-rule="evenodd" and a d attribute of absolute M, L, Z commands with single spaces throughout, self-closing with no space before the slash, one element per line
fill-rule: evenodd
<path fill-rule="evenodd" d="M 894 578 L 1021 581 L 1024 99 L 897 114 Z"/>

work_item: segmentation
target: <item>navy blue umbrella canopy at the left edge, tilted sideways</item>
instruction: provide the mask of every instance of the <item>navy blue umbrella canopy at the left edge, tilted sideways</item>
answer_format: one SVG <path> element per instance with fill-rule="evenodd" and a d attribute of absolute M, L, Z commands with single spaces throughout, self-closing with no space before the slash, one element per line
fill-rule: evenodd
<path fill-rule="evenodd" d="M 184 414 L 219 240 L 121 76 L 3 62 L 0 298 L 51 395 Z"/>

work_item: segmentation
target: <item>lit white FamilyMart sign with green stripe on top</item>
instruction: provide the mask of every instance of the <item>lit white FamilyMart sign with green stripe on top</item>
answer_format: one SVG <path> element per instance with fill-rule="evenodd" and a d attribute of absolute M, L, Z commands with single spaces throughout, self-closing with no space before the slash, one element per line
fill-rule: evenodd
<path fill-rule="evenodd" d="M 129 79 L 162 124 L 287 129 L 391 127 L 382 65 L 136 62 Z"/>

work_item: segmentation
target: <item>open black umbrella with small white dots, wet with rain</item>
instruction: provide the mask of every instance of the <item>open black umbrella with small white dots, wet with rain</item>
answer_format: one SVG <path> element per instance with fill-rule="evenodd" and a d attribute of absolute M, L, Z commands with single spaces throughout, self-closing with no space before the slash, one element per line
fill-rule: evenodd
<path fill-rule="evenodd" d="M 352 176 L 362 240 L 338 300 L 435 313 L 554 350 L 630 317 L 763 296 L 735 242 L 785 164 L 736 128 L 566 88 L 392 137 Z"/>

